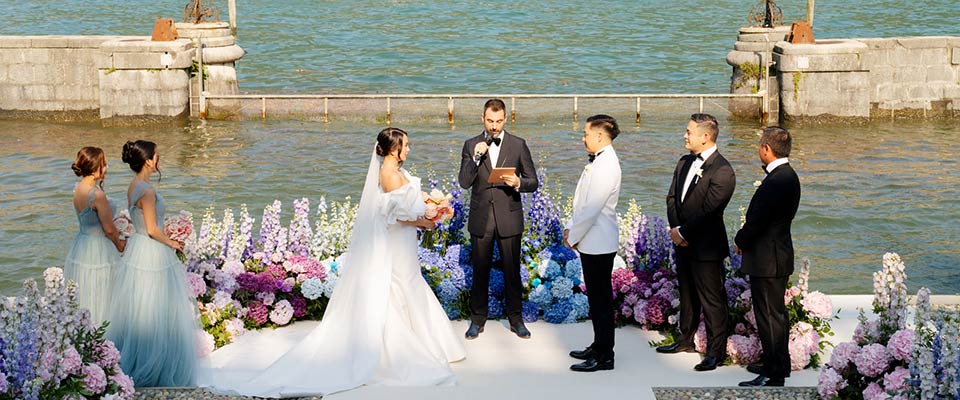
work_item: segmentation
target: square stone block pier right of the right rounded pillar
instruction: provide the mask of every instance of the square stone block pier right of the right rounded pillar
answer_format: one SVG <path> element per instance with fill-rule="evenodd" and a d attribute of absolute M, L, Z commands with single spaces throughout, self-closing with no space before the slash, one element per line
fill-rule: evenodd
<path fill-rule="evenodd" d="M 848 39 L 777 43 L 780 119 L 870 118 L 870 71 L 862 62 L 867 51 L 866 44 Z"/>

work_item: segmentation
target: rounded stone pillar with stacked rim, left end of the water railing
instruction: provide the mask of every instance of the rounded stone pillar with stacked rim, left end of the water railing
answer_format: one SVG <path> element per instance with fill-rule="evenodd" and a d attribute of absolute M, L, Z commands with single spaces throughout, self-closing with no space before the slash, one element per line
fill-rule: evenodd
<path fill-rule="evenodd" d="M 246 51 L 236 44 L 236 38 L 230 32 L 230 24 L 226 22 L 203 22 L 199 24 L 178 22 L 177 33 L 181 38 L 190 39 L 194 45 L 202 49 L 203 61 L 203 90 L 211 94 L 239 94 L 237 83 L 236 62 Z M 198 60 L 199 61 L 199 60 Z M 200 74 L 193 79 L 191 98 L 200 97 Z M 206 110 L 201 110 L 198 102 L 194 108 L 194 116 L 203 116 L 213 119 L 236 119 L 240 117 L 239 100 L 208 100 Z"/>

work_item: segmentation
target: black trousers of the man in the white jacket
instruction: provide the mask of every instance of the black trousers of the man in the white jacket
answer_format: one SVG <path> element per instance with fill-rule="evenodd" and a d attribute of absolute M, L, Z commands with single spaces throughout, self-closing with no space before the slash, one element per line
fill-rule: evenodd
<path fill-rule="evenodd" d="M 583 283 L 587 286 L 590 319 L 593 322 L 593 344 L 601 360 L 613 358 L 613 258 L 617 253 L 580 253 L 583 264 Z"/>

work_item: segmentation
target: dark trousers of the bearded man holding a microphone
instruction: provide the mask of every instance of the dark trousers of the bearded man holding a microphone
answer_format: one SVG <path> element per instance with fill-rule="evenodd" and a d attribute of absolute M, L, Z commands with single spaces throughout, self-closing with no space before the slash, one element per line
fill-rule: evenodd
<path fill-rule="evenodd" d="M 497 234 L 497 222 L 493 208 L 487 216 L 487 229 L 483 236 L 470 235 L 473 263 L 473 286 L 470 288 L 470 320 L 483 325 L 487 321 L 490 297 L 490 267 L 493 261 L 493 244 L 500 245 L 503 260 L 503 297 L 506 300 L 504 315 L 510 323 L 522 322 L 523 285 L 520 282 L 520 235 L 506 238 Z"/>

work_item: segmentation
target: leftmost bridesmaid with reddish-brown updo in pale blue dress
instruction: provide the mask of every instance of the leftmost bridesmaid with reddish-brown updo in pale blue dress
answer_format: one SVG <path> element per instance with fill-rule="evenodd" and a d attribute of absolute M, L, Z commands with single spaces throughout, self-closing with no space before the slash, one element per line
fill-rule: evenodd
<path fill-rule="evenodd" d="M 73 209 L 77 212 L 80 232 L 73 240 L 63 272 L 77 283 L 77 302 L 90 310 L 97 326 L 107 319 L 113 276 L 121 267 L 120 252 L 126 241 L 113 224 L 115 207 L 103 193 L 107 175 L 107 158 L 99 147 L 84 147 L 77 152 L 71 166 L 80 177 L 73 189 Z"/>

